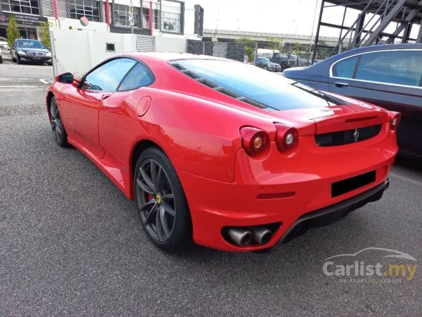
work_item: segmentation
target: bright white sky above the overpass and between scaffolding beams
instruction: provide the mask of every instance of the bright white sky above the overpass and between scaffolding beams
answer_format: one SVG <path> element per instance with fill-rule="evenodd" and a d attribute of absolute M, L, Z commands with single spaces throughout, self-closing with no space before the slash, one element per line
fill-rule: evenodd
<path fill-rule="evenodd" d="M 190 0 L 204 8 L 204 29 L 315 35 L 321 0 Z M 326 5 L 332 5 L 326 3 Z M 322 21 L 341 25 L 344 7 L 325 7 Z M 347 9 L 344 25 L 350 27 L 359 11 Z M 372 15 L 368 15 L 366 23 Z M 377 17 L 373 18 L 369 29 Z M 375 29 L 375 28 L 374 28 Z M 393 32 L 396 24 L 387 32 Z M 418 27 L 411 31 L 416 38 Z M 344 34 L 345 31 L 343 31 Z M 340 29 L 321 27 L 321 36 L 339 37 Z"/>

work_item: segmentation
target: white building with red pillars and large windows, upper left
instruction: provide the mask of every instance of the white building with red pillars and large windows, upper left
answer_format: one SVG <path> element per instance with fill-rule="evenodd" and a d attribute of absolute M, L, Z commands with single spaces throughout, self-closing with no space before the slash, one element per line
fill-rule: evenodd
<path fill-rule="evenodd" d="M 187 39 L 202 37 L 204 10 L 193 0 L 132 0 L 133 33 Z M 23 38 L 40 38 L 41 23 L 50 21 L 61 29 L 89 29 L 131 33 L 131 0 L 0 0 L 0 37 L 5 37 L 8 18 L 17 18 Z M 79 19 L 90 23 L 83 27 Z M 150 27 L 152 25 L 152 29 Z"/>

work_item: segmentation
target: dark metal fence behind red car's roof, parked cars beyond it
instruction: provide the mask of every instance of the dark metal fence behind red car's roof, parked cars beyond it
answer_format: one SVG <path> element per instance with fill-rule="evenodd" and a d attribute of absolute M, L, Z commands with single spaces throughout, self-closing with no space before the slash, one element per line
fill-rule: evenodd
<path fill-rule="evenodd" d="M 282 69 L 309 66 L 325 58 L 348 50 L 348 46 L 327 44 L 298 44 L 277 42 L 210 42 L 187 40 L 186 52 L 230 58 L 242 62 L 255 63 L 257 57 L 265 57 L 279 63 Z"/>

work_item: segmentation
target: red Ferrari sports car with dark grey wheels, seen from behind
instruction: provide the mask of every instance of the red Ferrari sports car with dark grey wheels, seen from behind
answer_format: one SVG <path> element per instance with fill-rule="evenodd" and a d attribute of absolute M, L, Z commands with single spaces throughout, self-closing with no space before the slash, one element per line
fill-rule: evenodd
<path fill-rule="evenodd" d="M 74 145 L 137 205 L 158 247 L 269 249 L 388 188 L 400 114 L 245 63 L 176 53 L 109 58 L 47 94 Z"/>

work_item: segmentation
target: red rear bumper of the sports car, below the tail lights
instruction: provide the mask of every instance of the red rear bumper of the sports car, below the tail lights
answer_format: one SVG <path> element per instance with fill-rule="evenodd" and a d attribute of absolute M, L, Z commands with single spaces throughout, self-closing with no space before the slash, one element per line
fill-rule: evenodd
<path fill-rule="evenodd" d="M 306 141 L 302 143 L 306 146 Z M 394 138 L 380 135 L 331 150 L 313 143 L 289 158 L 281 157 L 275 145 L 263 159 L 251 159 L 240 150 L 233 183 L 177 170 L 189 204 L 194 241 L 232 252 L 266 249 L 382 197 L 396 158 Z M 375 178 L 369 183 L 333 195 L 333 183 L 372 171 Z M 275 228 L 267 244 L 240 247 L 224 236 L 228 228 L 255 226 Z"/>

